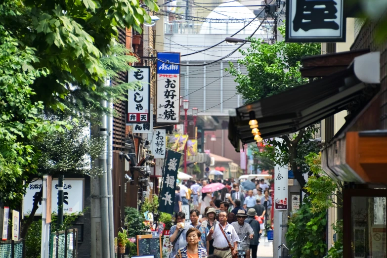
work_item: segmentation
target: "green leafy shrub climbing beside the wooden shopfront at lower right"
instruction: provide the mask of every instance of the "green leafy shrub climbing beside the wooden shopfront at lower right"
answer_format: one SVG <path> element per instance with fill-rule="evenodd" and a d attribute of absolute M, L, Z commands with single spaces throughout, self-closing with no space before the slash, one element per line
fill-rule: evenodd
<path fill-rule="evenodd" d="M 337 195 L 335 182 L 323 174 L 321 170 L 321 154 L 311 153 L 305 159 L 313 171 L 305 186 L 309 192 L 300 209 L 289 219 L 286 242 L 290 254 L 299 258 L 322 258 L 327 251 L 324 233 L 327 226 L 327 210 L 334 207 L 332 196 Z M 342 234 L 341 221 L 333 227 Z M 342 236 L 342 235 L 341 235 Z M 343 238 L 338 238 L 335 248 L 329 251 L 329 256 L 342 257 Z"/>

